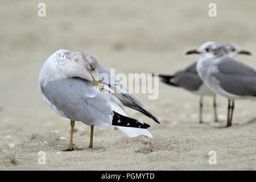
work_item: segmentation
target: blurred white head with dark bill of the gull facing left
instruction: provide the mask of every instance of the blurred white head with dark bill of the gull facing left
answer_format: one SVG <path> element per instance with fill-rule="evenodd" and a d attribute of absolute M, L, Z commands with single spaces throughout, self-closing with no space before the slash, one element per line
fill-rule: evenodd
<path fill-rule="evenodd" d="M 199 48 L 188 51 L 186 55 L 190 55 L 192 53 L 197 53 L 203 57 L 208 57 L 208 58 L 224 56 L 225 54 L 224 49 L 220 45 L 214 42 L 204 43 Z"/>

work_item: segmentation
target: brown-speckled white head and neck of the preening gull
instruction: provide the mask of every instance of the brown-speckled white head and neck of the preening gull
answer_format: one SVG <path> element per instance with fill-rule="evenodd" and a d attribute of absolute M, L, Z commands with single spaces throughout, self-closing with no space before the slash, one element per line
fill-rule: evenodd
<path fill-rule="evenodd" d="M 98 61 L 83 51 L 67 51 L 60 49 L 53 53 L 44 63 L 39 82 L 80 77 L 100 86 Z"/>

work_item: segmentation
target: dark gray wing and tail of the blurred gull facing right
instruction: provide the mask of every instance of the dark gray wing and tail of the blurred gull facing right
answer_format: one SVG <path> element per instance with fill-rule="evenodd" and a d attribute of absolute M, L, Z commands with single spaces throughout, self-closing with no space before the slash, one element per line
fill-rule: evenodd
<path fill-rule="evenodd" d="M 196 64 L 197 61 L 189 65 L 187 68 L 177 71 L 174 75 L 159 75 L 159 77 L 162 77 L 162 81 L 166 84 L 180 86 L 190 91 L 199 90 L 200 86 L 203 84 L 203 81 L 197 74 Z"/>

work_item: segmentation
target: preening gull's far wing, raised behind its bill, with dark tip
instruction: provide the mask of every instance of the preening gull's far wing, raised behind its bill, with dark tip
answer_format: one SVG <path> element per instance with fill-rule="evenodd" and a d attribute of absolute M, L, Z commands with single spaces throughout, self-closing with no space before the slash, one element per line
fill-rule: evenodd
<path fill-rule="evenodd" d="M 106 75 L 104 75 L 104 74 Z M 106 78 L 106 76 L 108 76 Z M 109 90 L 110 93 L 115 97 L 113 100 L 119 100 L 122 105 L 126 107 L 130 107 L 131 109 L 135 109 L 145 115 L 147 117 L 150 117 L 153 119 L 155 122 L 160 123 L 154 115 L 149 113 L 145 107 L 142 105 L 141 102 L 137 100 L 136 97 L 134 97 L 126 88 L 121 84 L 117 78 L 115 78 L 114 75 L 112 75 L 107 69 L 102 67 L 100 65 L 100 77 L 99 80 L 101 80 L 102 84 L 104 85 L 104 89 Z"/>

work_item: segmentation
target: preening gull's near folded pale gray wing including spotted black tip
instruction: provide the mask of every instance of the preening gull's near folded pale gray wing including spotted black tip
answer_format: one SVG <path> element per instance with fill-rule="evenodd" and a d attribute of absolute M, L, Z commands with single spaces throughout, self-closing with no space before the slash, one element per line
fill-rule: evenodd
<path fill-rule="evenodd" d="M 149 127 L 113 111 L 110 94 L 97 92 L 95 88 L 92 82 L 76 77 L 50 81 L 42 90 L 46 98 L 73 121 L 102 128 L 128 126 L 127 123 L 129 127 Z"/>

